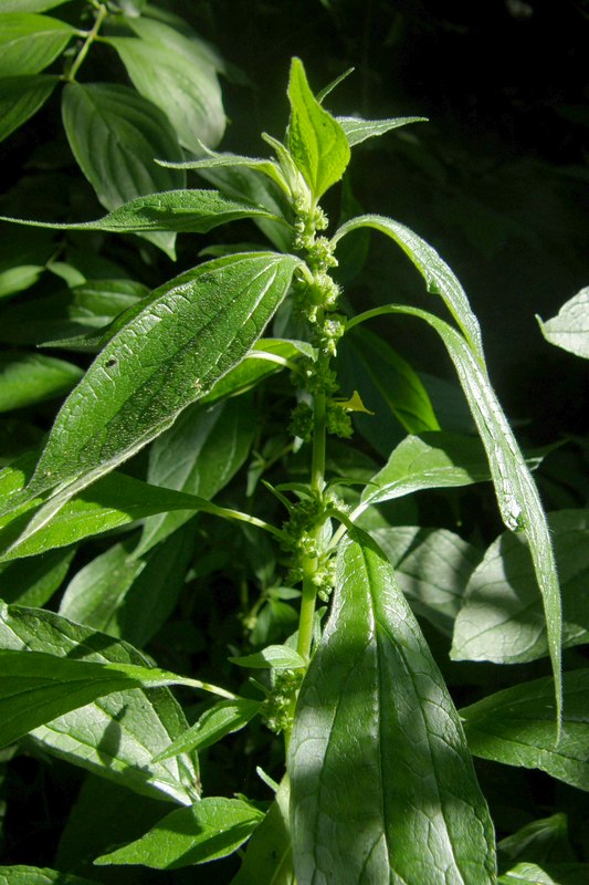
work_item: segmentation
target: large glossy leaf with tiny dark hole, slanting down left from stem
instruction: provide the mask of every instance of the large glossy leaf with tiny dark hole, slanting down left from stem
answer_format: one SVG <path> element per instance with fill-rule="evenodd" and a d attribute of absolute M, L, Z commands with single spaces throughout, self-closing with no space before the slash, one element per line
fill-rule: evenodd
<path fill-rule="evenodd" d="M 157 289 L 59 413 L 24 493 L 61 489 L 28 534 L 209 393 L 259 339 L 298 263 L 272 252 L 229 256 Z"/>

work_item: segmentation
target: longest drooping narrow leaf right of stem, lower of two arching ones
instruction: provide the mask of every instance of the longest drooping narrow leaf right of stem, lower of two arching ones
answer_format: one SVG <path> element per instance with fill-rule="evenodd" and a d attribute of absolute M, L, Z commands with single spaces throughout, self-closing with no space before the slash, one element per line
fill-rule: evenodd
<path fill-rule="evenodd" d="M 562 709 L 562 611 L 553 542 L 536 483 L 488 382 L 486 371 L 460 332 L 427 311 L 403 304 L 388 304 L 386 308 L 368 311 L 353 322 L 386 313 L 404 313 L 420 317 L 442 339 L 486 450 L 502 519 L 511 531 L 522 531 L 525 534 L 543 597 L 548 649 L 555 677 L 558 731 Z"/>

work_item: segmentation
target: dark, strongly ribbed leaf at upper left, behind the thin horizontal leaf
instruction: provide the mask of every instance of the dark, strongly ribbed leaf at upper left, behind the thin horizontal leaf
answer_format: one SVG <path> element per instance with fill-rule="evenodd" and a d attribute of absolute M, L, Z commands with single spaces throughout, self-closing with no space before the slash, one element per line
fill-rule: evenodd
<path fill-rule="evenodd" d="M 106 209 L 185 186 L 183 171 L 154 162 L 156 157 L 182 157 L 167 117 L 127 86 L 69 83 L 63 91 L 62 116 L 72 153 Z M 147 237 L 173 256 L 172 233 Z"/>

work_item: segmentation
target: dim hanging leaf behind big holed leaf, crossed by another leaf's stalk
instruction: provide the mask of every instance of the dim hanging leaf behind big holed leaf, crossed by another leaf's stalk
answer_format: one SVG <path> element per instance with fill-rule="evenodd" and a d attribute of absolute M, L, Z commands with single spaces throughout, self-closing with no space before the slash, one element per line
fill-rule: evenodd
<path fill-rule="evenodd" d="M 244 464 L 255 430 L 255 409 L 249 396 L 215 406 L 189 406 L 149 449 L 147 479 L 154 486 L 210 500 Z M 148 520 L 137 555 L 167 538 L 190 517 L 192 511 L 176 511 Z"/>

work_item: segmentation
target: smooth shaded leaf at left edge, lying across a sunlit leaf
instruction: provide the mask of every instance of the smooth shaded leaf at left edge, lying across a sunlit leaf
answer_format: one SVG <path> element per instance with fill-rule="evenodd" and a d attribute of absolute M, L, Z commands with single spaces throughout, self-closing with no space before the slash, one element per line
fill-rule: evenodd
<path fill-rule="evenodd" d="M 0 650 L 0 746 L 104 695 L 176 683 L 166 670 L 71 660 L 45 652 Z M 180 679 L 181 681 L 181 679 Z"/>

